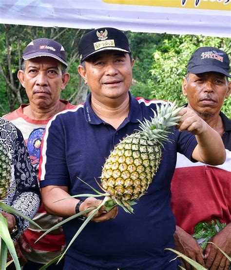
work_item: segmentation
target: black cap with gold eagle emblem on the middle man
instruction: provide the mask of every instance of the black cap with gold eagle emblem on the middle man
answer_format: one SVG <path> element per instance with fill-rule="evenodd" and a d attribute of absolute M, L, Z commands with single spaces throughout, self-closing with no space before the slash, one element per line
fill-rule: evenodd
<path fill-rule="evenodd" d="M 116 50 L 131 54 L 126 35 L 111 27 L 103 27 L 92 30 L 82 37 L 78 45 L 80 62 L 89 56 L 106 51 Z"/>

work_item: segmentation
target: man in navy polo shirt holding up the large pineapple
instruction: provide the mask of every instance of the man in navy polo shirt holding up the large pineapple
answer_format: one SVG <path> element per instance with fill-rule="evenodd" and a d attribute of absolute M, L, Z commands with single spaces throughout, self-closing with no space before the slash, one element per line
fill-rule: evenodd
<path fill-rule="evenodd" d="M 79 56 L 78 71 L 91 93 L 84 104 L 58 114 L 49 122 L 41 149 L 39 178 L 43 203 L 49 212 L 63 217 L 99 206 L 102 200 L 96 198 L 70 198 L 70 195 L 91 193 L 91 188 L 77 177 L 98 189 L 96 180 L 110 150 L 139 128 L 139 121 L 153 116 L 152 108 L 156 110 L 156 104 L 165 103 L 131 96 L 134 60 L 128 39 L 120 30 L 90 31 L 79 43 Z M 170 135 L 174 143 L 165 145 L 159 170 L 148 194 L 135 205 L 135 214 L 129 215 L 117 207 L 105 213 L 102 206 L 93 222 L 87 224 L 68 249 L 64 270 L 176 269 L 176 262 L 170 262 L 173 253 L 164 251 L 174 247 L 170 182 L 176 151 L 181 149 L 191 159 L 205 159 L 215 164 L 225 159 L 213 159 L 214 148 L 206 136 L 210 134 L 220 141 L 219 147 L 225 155 L 219 134 L 190 108 L 182 109 L 180 115 L 184 116 L 179 128 L 182 131 L 192 128 L 200 138 L 199 145 L 193 134 L 175 130 Z M 207 149 L 210 154 L 202 158 L 199 149 Z M 216 151 L 220 149 L 216 147 Z M 82 220 L 73 219 L 63 226 L 67 243 L 81 225 Z"/>

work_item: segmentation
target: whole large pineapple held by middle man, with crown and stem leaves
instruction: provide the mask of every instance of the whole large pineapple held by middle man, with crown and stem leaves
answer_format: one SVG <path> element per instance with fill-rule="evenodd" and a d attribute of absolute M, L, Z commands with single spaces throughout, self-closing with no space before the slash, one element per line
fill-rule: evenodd
<path fill-rule="evenodd" d="M 172 133 L 172 127 L 177 125 L 180 120 L 181 117 L 177 114 L 182 109 L 182 107 L 177 108 L 175 102 L 173 104 L 162 104 L 161 106 L 156 105 L 156 108 L 157 112 L 153 110 L 154 117 L 139 122 L 140 129 L 121 140 L 106 159 L 100 177 L 101 185 L 99 185 L 105 193 L 97 191 L 80 179 L 91 187 L 97 195 L 104 196 L 104 199 L 100 206 L 92 210 L 90 216 L 77 230 L 62 256 L 101 206 L 105 205 L 106 211 L 109 211 L 119 205 L 126 212 L 133 213 L 132 206 L 136 204 L 135 200 L 138 200 L 147 192 L 161 161 L 161 149 L 164 147 L 165 141 L 170 141 L 168 135 Z M 96 196 L 94 194 L 80 194 L 72 197 L 83 197 L 85 195 L 87 197 Z M 84 213 L 80 212 L 79 214 Z M 77 215 L 74 216 L 77 217 Z M 64 222 L 67 222 L 67 220 Z M 59 223 L 59 225 L 61 224 L 63 223 Z M 54 228 L 57 227 L 50 230 Z"/>

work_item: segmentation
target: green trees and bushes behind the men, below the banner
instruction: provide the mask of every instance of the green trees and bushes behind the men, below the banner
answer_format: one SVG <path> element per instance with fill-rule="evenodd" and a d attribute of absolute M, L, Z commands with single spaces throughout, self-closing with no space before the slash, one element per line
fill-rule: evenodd
<path fill-rule="evenodd" d="M 67 53 L 71 80 L 61 98 L 72 104 L 84 102 L 88 89 L 77 72 L 79 57 L 77 46 L 89 30 L 72 28 L 45 28 L 0 24 L 0 116 L 21 103 L 28 103 L 23 87 L 17 79 L 21 55 L 25 46 L 34 39 L 50 38 L 60 42 Z M 168 35 L 126 32 L 130 41 L 134 65 L 131 92 L 135 97 L 176 100 L 186 102 L 181 93 L 182 78 L 187 62 L 200 46 L 215 46 L 231 56 L 231 40 L 193 35 Z M 225 101 L 222 111 L 231 118 L 231 98 Z"/>

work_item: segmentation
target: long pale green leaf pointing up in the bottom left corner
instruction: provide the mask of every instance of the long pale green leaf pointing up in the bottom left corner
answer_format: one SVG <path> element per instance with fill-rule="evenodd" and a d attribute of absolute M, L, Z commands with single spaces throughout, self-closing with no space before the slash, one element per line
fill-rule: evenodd
<path fill-rule="evenodd" d="M 7 220 L 6 220 L 6 218 L 3 217 L 2 214 L 0 214 L 0 237 L 5 242 L 5 245 L 7 246 L 7 248 L 10 251 L 10 254 L 11 254 L 11 256 L 14 260 L 15 266 L 16 266 L 16 270 L 21 270 L 20 265 L 19 265 L 19 259 L 17 257 L 17 253 L 15 250 L 15 246 L 14 246 L 14 243 L 11 239 L 11 236 L 10 236 L 10 233 L 8 230 Z M 3 244 L 3 247 L 4 247 L 4 244 Z M 4 249 L 3 249 L 3 252 L 5 252 Z M 5 268 L 2 268 L 1 270 L 5 270 Z"/>

